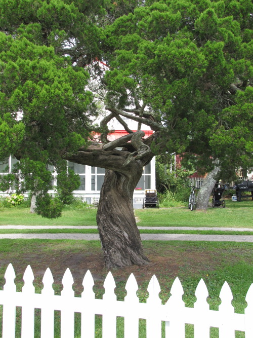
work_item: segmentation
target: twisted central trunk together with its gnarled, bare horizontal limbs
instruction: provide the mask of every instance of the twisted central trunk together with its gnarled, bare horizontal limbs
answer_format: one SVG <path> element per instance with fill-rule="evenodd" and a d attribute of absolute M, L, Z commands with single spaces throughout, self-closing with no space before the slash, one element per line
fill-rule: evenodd
<path fill-rule="evenodd" d="M 66 160 L 106 169 L 100 192 L 97 224 L 105 265 L 117 269 L 130 265 L 149 264 L 144 255 L 140 232 L 133 210 L 133 194 L 147 165 L 154 156 L 149 148 L 155 134 L 143 141 L 144 132 L 131 135 L 108 144 L 91 145 L 76 154 L 65 156 Z M 134 152 L 118 150 L 131 139 Z M 121 144 L 122 143 L 122 144 Z"/>

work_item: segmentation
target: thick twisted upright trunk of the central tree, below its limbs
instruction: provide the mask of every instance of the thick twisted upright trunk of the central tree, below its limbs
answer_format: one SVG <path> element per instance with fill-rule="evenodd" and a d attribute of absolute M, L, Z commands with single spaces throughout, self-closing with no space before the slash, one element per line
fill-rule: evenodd
<path fill-rule="evenodd" d="M 141 161 L 136 161 L 132 174 L 106 170 L 97 224 L 108 269 L 149 264 L 133 210 L 133 193 L 142 171 Z"/>

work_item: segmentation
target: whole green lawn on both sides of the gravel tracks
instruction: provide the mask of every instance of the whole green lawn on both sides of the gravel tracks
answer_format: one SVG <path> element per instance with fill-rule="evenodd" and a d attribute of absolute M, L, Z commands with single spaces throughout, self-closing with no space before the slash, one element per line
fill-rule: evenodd
<path fill-rule="evenodd" d="M 226 208 L 208 208 L 206 212 L 191 212 L 187 206 L 168 209 L 138 209 L 138 226 L 165 226 L 170 227 L 224 227 L 224 228 L 251 228 L 253 202 L 226 201 Z M 49 226 L 95 226 L 97 209 L 73 209 L 65 207 L 63 215 L 58 219 L 46 219 L 31 214 L 29 208 L 1 208 L 0 207 L 0 233 L 97 233 L 96 229 L 50 229 L 50 230 L 12 230 L 2 229 L 1 225 L 49 225 Z M 223 234 L 223 235 L 252 235 L 250 232 L 217 232 L 217 231 L 180 231 L 180 230 L 141 230 L 141 233 L 191 233 L 191 234 Z M 246 307 L 245 295 L 253 281 L 253 253 L 252 243 L 232 242 L 186 242 L 186 241 L 144 241 L 145 253 L 152 263 L 145 267 L 129 267 L 114 271 L 118 300 L 126 294 L 124 289 L 128 276 L 133 272 L 137 276 L 141 302 L 148 297 L 147 285 L 154 273 L 161 286 L 160 298 L 164 304 L 170 296 L 170 288 L 176 276 L 182 282 L 185 290 L 183 297 L 187 307 L 192 307 L 196 298 L 196 286 L 201 278 L 204 279 L 209 291 L 207 301 L 210 308 L 217 310 L 220 304 L 219 292 L 225 280 L 229 283 L 234 299 L 232 301 L 235 311 L 243 313 Z M 55 273 L 54 289 L 59 294 L 62 285 L 61 279 L 64 269 L 72 268 L 78 278 L 83 277 L 90 269 L 96 276 L 94 292 L 97 298 L 104 293 L 103 281 L 107 271 L 103 268 L 101 244 L 99 241 L 71 241 L 71 240 L 0 240 L 0 289 L 4 281 L 4 272 L 9 262 L 13 262 L 17 271 L 17 289 L 23 286 L 22 276 L 28 264 L 35 272 L 34 286 L 40 292 L 43 273 L 50 266 Z M 52 271 L 53 271 L 52 270 Z M 82 276 L 80 276 L 82 274 Z M 74 275 L 73 275 L 74 276 Z M 74 278 L 75 279 L 75 278 Z M 75 281 L 73 288 L 79 296 L 82 287 L 81 280 Z M 0 311 L 1 313 L 1 311 Z M 20 336 L 20 309 L 17 310 Z M 39 310 L 36 310 L 35 337 L 39 337 Z M 55 312 L 56 331 L 55 338 L 60 337 L 60 315 Z M 80 337 L 80 316 L 76 314 L 75 338 Z M 1 319 L 0 319 L 1 323 Z M 163 325 L 164 326 L 164 325 Z M 217 338 L 218 329 L 210 330 L 210 337 Z M 186 338 L 194 336 L 192 325 L 186 325 Z M 243 338 L 242 332 L 236 332 L 236 338 Z M 96 338 L 102 337 L 102 318 L 96 316 Z M 123 337 L 123 318 L 117 319 L 117 337 Z M 140 320 L 140 338 L 146 337 L 145 320 Z M 164 337 L 164 328 L 162 337 Z"/>

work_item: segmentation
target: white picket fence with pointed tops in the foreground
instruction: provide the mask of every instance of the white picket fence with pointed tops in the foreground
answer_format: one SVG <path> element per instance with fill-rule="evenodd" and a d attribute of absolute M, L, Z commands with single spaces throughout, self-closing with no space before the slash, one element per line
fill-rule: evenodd
<path fill-rule="evenodd" d="M 185 307 L 182 300 L 184 290 L 178 278 L 175 279 L 171 296 L 165 305 L 159 298 L 160 286 L 155 276 L 148 285 L 149 297 L 140 303 L 136 294 L 138 285 L 133 274 L 126 282 L 127 295 L 124 301 L 117 301 L 115 282 L 109 272 L 105 282 L 103 299 L 96 299 L 94 281 L 88 271 L 83 279 L 81 297 L 75 297 L 72 289 L 73 277 L 69 269 L 63 279 L 61 295 L 55 295 L 50 269 L 47 269 L 41 293 L 34 292 L 34 276 L 30 266 L 24 273 L 22 292 L 16 291 L 15 272 L 10 264 L 5 273 L 6 284 L 0 290 L 0 304 L 3 305 L 3 338 L 15 337 L 16 306 L 22 307 L 21 337 L 34 337 L 34 309 L 41 309 L 41 338 L 54 337 L 54 310 L 61 311 L 61 338 L 74 338 L 74 313 L 81 313 L 81 338 L 95 337 L 95 314 L 102 315 L 103 338 L 116 338 L 116 317 L 124 317 L 124 338 L 139 337 L 139 318 L 146 319 L 146 337 L 161 337 L 161 322 L 165 321 L 165 338 L 185 337 L 185 323 L 194 324 L 194 337 L 209 338 L 210 326 L 219 327 L 219 337 L 235 336 L 235 330 L 245 331 L 245 338 L 253 337 L 253 284 L 246 295 L 247 307 L 244 314 L 237 314 L 231 305 L 233 295 L 227 282 L 224 283 L 219 311 L 209 310 L 206 302 L 208 291 L 201 279 L 196 288 L 196 302 L 193 308 Z"/>

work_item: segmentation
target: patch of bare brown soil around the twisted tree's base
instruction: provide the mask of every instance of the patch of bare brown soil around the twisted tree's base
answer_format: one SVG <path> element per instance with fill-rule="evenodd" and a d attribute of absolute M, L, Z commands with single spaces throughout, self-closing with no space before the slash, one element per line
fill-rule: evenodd
<path fill-rule="evenodd" d="M 42 248 L 43 249 L 43 248 Z M 160 252 L 159 252 L 160 251 Z M 187 267 L 190 274 L 194 274 L 201 270 L 213 270 L 217 267 L 212 253 L 199 250 L 186 249 L 183 252 L 170 249 L 157 250 L 149 247 L 145 250 L 146 255 L 150 259 L 150 264 L 145 266 L 131 266 L 118 270 L 113 270 L 112 274 L 115 282 L 125 283 L 128 277 L 133 273 L 138 282 L 138 285 L 149 282 L 153 275 L 156 275 L 160 284 L 168 285 L 168 280 L 173 281 L 179 274 L 182 267 Z M 15 257 L 15 258 L 14 258 Z M 82 292 L 82 280 L 88 270 L 91 271 L 95 281 L 95 289 L 103 289 L 103 283 L 108 271 L 104 266 L 102 251 L 90 250 L 75 252 L 68 250 L 52 250 L 45 252 L 40 251 L 38 247 L 36 252 L 27 252 L 22 255 L 15 256 L 14 254 L 3 257 L 0 254 L 1 267 L 7 267 L 9 262 L 12 262 L 16 273 L 16 281 L 23 283 L 22 277 L 27 265 L 30 265 L 34 274 L 34 285 L 39 289 L 43 288 L 42 279 L 47 268 L 50 268 L 54 277 L 54 286 L 58 292 L 62 289 L 62 277 L 67 268 L 70 269 L 74 284 L 73 289 L 76 294 Z M 3 271 L 3 270 L 2 270 Z M 2 277 L 2 276 L 1 276 Z M 1 287 L 4 282 L 1 278 Z"/>

